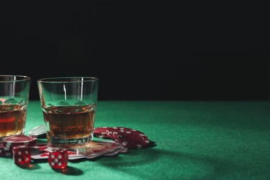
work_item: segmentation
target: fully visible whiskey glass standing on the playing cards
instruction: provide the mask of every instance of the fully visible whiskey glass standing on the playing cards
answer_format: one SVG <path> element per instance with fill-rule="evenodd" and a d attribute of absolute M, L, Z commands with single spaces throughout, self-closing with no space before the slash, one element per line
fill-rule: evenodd
<path fill-rule="evenodd" d="M 93 140 L 98 81 L 93 77 L 37 80 L 48 143 L 64 147 Z"/>

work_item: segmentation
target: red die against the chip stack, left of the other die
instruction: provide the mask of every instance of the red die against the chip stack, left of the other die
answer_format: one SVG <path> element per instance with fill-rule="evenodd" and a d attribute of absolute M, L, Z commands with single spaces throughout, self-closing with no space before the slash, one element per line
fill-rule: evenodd
<path fill-rule="evenodd" d="M 28 145 L 15 145 L 12 147 L 13 161 L 18 165 L 28 164 L 31 161 L 31 152 Z"/>

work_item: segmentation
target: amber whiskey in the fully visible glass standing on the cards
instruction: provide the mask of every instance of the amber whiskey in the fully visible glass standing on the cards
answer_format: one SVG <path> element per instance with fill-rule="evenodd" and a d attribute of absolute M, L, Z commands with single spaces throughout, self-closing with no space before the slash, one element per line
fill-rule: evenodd
<path fill-rule="evenodd" d="M 43 115 L 49 143 L 84 144 L 93 139 L 96 105 L 53 106 Z"/>

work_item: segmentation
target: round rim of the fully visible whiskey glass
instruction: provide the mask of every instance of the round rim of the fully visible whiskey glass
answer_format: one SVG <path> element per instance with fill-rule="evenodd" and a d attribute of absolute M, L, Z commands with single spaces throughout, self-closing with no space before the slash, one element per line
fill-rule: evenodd
<path fill-rule="evenodd" d="M 74 79 L 77 79 L 77 80 L 74 80 Z M 100 79 L 95 78 L 95 77 L 89 77 L 89 76 L 66 76 L 66 77 L 54 77 L 54 78 L 41 78 L 37 80 L 37 83 L 54 84 L 54 83 L 74 83 L 74 82 L 96 82 L 98 80 Z"/>

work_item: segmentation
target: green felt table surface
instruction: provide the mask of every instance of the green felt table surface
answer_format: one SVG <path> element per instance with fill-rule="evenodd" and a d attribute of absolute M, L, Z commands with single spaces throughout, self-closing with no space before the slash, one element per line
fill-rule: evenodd
<path fill-rule="evenodd" d="M 43 124 L 30 101 L 26 134 Z M 0 157 L 1 179 L 270 179 L 269 101 L 100 101 L 95 127 L 130 127 L 151 145 L 116 156 L 22 168 Z"/>

